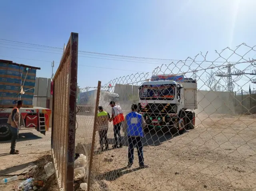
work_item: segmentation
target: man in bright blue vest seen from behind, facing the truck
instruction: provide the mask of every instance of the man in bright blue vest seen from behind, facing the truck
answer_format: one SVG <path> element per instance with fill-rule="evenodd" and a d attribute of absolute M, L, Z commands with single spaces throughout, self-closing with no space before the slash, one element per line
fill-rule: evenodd
<path fill-rule="evenodd" d="M 142 143 L 142 137 L 144 137 L 143 127 L 146 126 L 146 122 L 142 115 L 136 112 L 138 109 L 138 105 L 132 104 L 131 109 L 132 111 L 125 116 L 124 123 L 129 143 L 127 167 L 132 167 L 134 160 L 134 146 L 136 145 L 140 168 L 146 168 L 148 167 L 148 165 L 144 164 Z"/>

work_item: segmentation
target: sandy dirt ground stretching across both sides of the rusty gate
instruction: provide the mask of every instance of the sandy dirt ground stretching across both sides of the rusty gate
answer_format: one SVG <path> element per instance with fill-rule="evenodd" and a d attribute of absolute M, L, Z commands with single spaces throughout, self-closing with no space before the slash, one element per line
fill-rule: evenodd
<path fill-rule="evenodd" d="M 76 143 L 91 141 L 93 117 L 77 116 Z M 138 168 L 134 151 L 134 165 L 128 163 L 127 140 L 124 147 L 110 149 L 94 157 L 99 164 L 94 179 L 109 191 L 256 191 L 256 117 L 199 114 L 196 128 L 182 135 L 147 133 L 144 137 L 145 163 Z M 50 131 L 46 136 L 37 131 L 22 130 L 17 143 L 19 155 L 9 155 L 10 141 L 0 142 L 0 176 L 8 167 L 28 165 L 50 150 Z M 114 143 L 110 125 L 108 138 Z M 98 134 L 96 134 L 98 147 Z M 111 145 L 110 145 L 111 147 Z M 22 175 L 20 179 L 24 178 Z M 18 181 L 0 185 L 10 191 Z"/>

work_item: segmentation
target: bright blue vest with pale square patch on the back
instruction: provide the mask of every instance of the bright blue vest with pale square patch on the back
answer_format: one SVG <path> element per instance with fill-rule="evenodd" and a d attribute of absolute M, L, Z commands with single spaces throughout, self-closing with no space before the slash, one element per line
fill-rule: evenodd
<path fill-rule="evenodd" d="M 132 111 L 125 116 L 127 123 L 127 136 L 132 137 L 144 137 L 144 131 L 142 127 L 143 118 L 142 115 Z"/>

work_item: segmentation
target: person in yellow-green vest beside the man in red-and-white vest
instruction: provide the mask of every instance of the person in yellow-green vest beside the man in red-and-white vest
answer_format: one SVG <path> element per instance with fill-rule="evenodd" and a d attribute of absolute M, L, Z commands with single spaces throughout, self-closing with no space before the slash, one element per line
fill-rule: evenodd
<path fill-rule="evenodd" d="M 98 113 L 98 133 L 100 137 L 100 150 L 105 149 L 108 150 L 108 120 L 110 119 L 110 115 L 108 112 L 103 110 L 102 106 L 98 107 L 100 113 Z"/>

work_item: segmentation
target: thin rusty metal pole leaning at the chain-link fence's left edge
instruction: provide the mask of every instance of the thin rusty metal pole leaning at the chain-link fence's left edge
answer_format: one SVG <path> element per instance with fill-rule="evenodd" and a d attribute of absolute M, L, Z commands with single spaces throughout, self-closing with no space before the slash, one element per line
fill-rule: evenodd
<path fill-rule="evenodd" d="M 100 86 L 101 86 L 101 82 L 98 81 L 96 105 L 95 105 L 95 112 L 94 112 L 93 133 L 92 133 L 92 147 L 91 147 L 90 162 L 89 162 L 89 173 L 88 173 L 88 182 L 87 182 L 88 187 L 87 187 L 87 191 L 90 191 L 90 187 L 91 187 L 92 159 L 93 159 L 93 154 L 94 154 L 95 134 L 96 134 L 96 128 L 97 128 L 97 114 L 98 114 L 98 106 L 99 106 L 99 100 L 100 100 Z"/>

